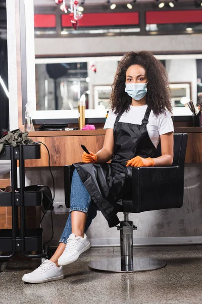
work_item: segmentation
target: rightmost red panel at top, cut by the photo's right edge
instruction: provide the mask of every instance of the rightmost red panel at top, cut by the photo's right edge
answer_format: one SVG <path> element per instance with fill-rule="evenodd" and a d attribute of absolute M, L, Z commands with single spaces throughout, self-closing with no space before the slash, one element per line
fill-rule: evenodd
<path fill-rule="evenodd" d="M 146 12 L 146 24 L 202 22 L 202 11 Z"/>

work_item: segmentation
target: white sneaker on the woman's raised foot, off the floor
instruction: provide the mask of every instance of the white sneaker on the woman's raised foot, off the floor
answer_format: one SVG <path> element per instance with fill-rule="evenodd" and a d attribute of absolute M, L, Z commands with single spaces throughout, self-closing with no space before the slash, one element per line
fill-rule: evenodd
<path fill-rule="evenodd" d="M 86 235 L 84 238 L 75 237 L 75 234 L 71 234 L 67 240 L 67 245 L 63 254 L 58 259 L 59 265 L 67 265 L 77 260 L 79 255 L 90 248 L 90 242 Z"/>

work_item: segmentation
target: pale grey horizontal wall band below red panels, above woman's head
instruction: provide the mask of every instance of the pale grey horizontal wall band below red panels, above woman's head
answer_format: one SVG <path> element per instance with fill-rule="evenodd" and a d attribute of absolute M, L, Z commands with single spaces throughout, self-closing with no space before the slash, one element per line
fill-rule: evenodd
<path fill-rule="evenodd" d="M 202 51 L 202 34 L 156 36 L 104 36 L 76 38 L 35 38 L 36 55 L 78 55 L 126 53 L 129 51 Z"/>

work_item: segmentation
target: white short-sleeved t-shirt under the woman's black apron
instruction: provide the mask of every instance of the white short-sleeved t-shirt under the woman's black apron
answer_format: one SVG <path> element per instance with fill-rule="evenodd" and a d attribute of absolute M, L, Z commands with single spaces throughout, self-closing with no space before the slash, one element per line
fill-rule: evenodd
<path fill-rule="evenodd" d="M 129 111 L 123 113 L 119 122 L 141 125 L 146 108 L 147 104 L 142 106 L 131 105 Z M 116 118 L 117 114 L 110 110 L 104 129 L 114 129 Z M 166 134 L 168 132 L 174 132 L 173 121 L 170 112 L 166 111 L 166 115 L 164 113 L 161 113 L 159 116 L 155 116 L 153 110 L 151 110 L 146 129 L 150 140 L 157 148 L 160 141 L 160 135 Z"/>

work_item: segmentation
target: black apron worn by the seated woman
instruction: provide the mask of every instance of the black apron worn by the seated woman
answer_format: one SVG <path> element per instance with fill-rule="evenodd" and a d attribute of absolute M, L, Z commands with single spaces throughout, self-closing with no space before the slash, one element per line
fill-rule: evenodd
<path fill-rule="evenodd" d="M 119 113 L 114 124 L 114 155 L 110 164 L 73 164 L 109 227 L 120 222 L 117 212 L 121 205 L 117 202 L 127 198 L 127 194 L 131 196 L 132 167 L 126 167 L 126 161 L 138 155 L 143 158 L 156 156 L 156 147 L 146 129 L 150 111 L 147 107 L 141 125 L 119 122 L 122 112 Z"/>

